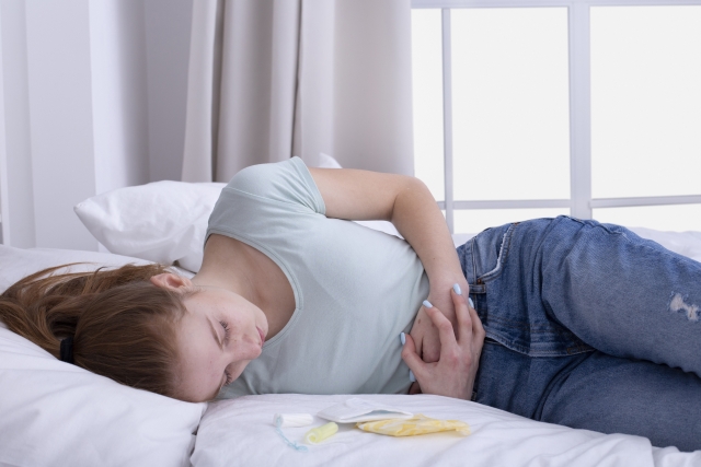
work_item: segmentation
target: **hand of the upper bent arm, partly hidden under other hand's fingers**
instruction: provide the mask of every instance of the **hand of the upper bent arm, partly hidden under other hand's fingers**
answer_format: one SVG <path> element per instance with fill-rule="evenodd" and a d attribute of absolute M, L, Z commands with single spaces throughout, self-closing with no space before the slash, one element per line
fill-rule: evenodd
<path fill-rule="evenodd" d="M 443 284 L 440 285 L 437 285 L 437 280 L 433 280 L 430 293 L 428 294 L 428 302 L 433 303 L 435 307 L 440 310 L 444 316 L 448 318 L 452 327 L 457 328 L 458 318 L 456 317 L 456 308 L 452 296 L 450 295 L 450 284 L 458 281 L 458 291 L 464 293 L 466 296 L 469 293 L 470 285 L 462 275 L 460 275 L 459 278 L 451 279 L 453 279 L 453 281 L 443 281 Z M 440 358 L 440 338 L 438 336 L 438 328 L 428 317 L 425 306 L 422 306 L 418 310 L 416 318 L 414 319 L 414 326 L 412 326 L 410 335 L 412 339 L 414 339 L 416 353 L 422 358 L 424 362 L 433 363 L 438 361 L 438 359 Z"/>

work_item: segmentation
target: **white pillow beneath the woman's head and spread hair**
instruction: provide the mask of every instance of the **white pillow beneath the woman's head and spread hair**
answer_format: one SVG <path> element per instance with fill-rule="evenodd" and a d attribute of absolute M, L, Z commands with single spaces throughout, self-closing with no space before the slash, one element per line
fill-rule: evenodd
<path fill-rule="evenodd" d="M 139 262 L 93 252 L 0 246 L 0 290 L 38 269 L 89 259 Z M 193 433 L 207 407 L 60 362 L 2 323 L 0 395 L 0 466 L 188 466 Z"/>

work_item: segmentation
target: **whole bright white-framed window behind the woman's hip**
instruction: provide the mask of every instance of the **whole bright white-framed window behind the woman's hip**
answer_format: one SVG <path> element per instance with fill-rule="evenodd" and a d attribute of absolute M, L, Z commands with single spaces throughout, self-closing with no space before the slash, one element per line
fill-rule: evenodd
<path fill-rule="evenodd" d="M 415 172 L 452 232 L 701 231 L 701 0 L 654 1 L 413 0 Z"/>

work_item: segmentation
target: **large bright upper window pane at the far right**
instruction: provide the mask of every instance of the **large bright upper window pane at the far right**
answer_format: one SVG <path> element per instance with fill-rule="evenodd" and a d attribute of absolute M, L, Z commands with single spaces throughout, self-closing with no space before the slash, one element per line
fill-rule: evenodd
<path fill-rule="evenodd" d="M 701 7 L 591 9 L 595 198 L 701 194 L 700 57 Z"/>

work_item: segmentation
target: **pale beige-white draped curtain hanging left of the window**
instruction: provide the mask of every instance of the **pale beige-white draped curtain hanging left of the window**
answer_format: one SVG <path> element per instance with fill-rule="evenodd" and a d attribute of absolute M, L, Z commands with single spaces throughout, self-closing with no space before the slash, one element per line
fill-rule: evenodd
<path fill-rule="evenodd" d="M 319 154 L 413 174 L 411 0 L 194 0 L 183 180 Z"/>

